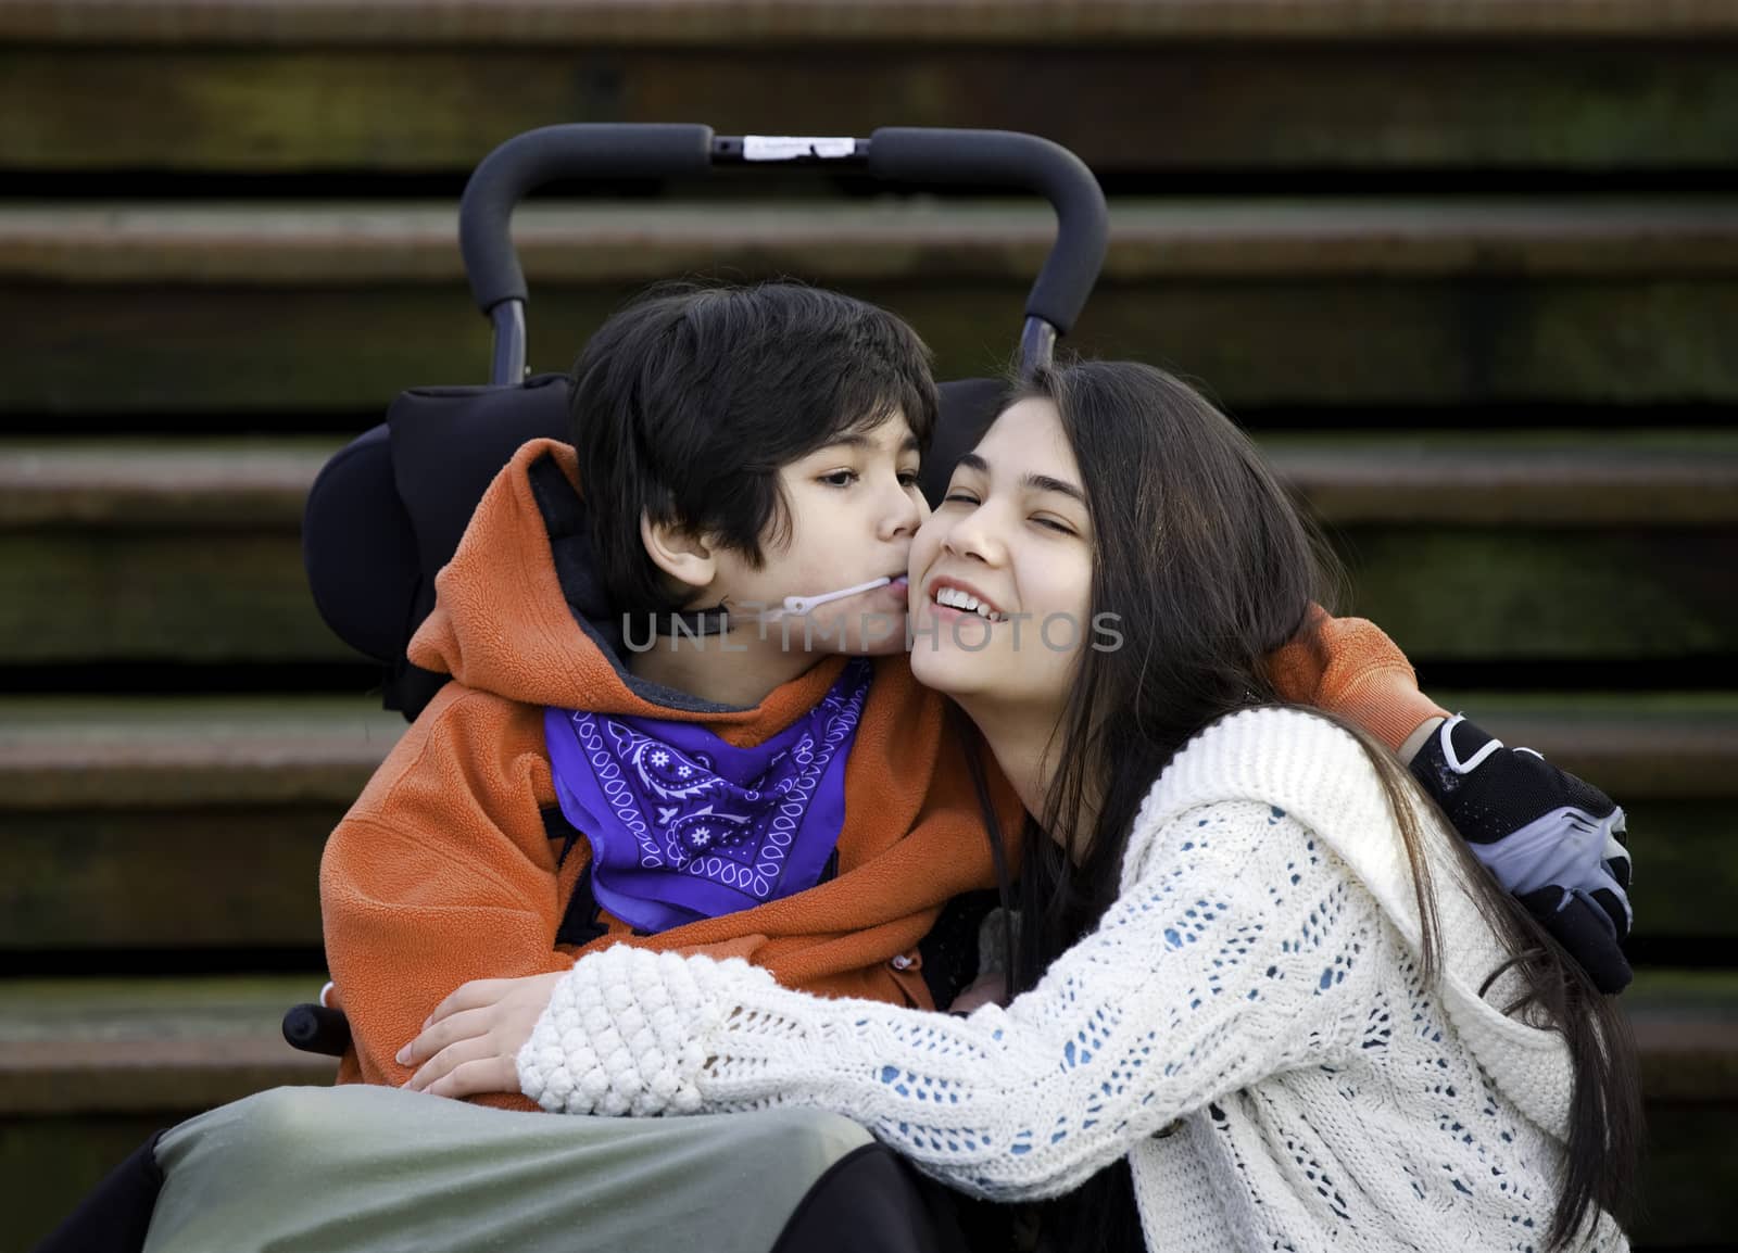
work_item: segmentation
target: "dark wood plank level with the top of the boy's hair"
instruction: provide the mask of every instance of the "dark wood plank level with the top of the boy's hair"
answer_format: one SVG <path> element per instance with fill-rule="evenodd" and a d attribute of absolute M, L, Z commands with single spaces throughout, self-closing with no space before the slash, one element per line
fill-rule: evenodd
<path fill-rule="evenodd" d="M 572 365 L 640 285 L 535 288 L 530 360 Z M 841 283 L 907 318 L 940 377 L 1006 367 L 1018 283 Z M 0 288 L 12 412 L 384 412 L 408 386 L 487 379 L 457 288 Z M 1257 405 L 1731 403 L 1738 280 L 1203 282 L 1102 287 L 1071 346 Z M 90 363 L 101 360 L 104 368 Z M 224 368 L 212 368 L 221 361 Z"/>

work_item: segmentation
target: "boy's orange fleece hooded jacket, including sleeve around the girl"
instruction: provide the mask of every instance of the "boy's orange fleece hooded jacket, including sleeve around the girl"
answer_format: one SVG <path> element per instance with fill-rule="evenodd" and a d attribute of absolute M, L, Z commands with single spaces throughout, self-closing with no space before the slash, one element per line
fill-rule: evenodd
<path fill-rule="evenodd" d="M 653 937 L 603 914 L 608 935 L 556 947 L 589 850 L 580 843 L 558 867 L 544 829 L 542 812 L 556 805 L 546 706 L 704 721 L 732 744 L 754 744 L 812 709 L 845 662 L 827 659 L 746 711 L 647 700 L 567 603 L 527 478 L 546 455 L 577 480 L 572 448 L 539 440 L 490 485 L 410 645 L 415 664 L 455 681 L 391 751 L 322 859 L 332 1003 L 353 1038 L 339 1081 L 408 1079 L 395 1053 L 461 984 L 565 970 L 579 952 L 615 942 L 740 956 L 789 987 L 932 1008 L 916 945 L 949 898 L 994 886 L 996 876 L 945 702 L 916 683 L 904 657 L 876 662 L 846 763 L 834 879 Z M 1317 627 L 1309 645 L 1276 653 L 1286 700 L 1345 713 L 1392 747 L 1441 713 L 1371 624 L 1323 617 Z M 1018 799 L 994 768 L 991 779 L 1003 831 L 1017 831 Z M 905 959 L 900 968 L 895 958 Z"/>

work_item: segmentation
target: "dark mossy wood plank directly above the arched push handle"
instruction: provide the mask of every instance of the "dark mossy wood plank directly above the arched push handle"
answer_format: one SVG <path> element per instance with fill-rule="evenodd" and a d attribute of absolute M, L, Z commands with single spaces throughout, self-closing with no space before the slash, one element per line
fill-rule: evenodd
<path fill-rule="evenodd" d="M 10 12 L 0 7 L 0 21 Z M 1566 33 L 1477 47 L 1330 42 L 1300 54 L 1121 38 L 853 43 L 834 31 L 793 57 L 761 42 L 610 47 L 594 31 L 577 49 L 395 38 L 375 50 L 358 47 L 351 26 L 295 50 L 0 47 L 0 111 L 12 120 L 0 169 L 19 170 L 464 174 L 551 122 L 841 136 L 892 122 L 991 127 L 1048 136 L 1100 174 L 1717 170 L 1735 160 L 1738 66 L 1721 42 Z"/>

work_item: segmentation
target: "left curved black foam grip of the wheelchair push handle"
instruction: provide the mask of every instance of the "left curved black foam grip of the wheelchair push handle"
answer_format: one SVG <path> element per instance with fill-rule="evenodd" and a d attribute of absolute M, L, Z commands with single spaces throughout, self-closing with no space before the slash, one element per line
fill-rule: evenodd
<path fill-rule="evenodd" d="M 575 122 L 514 136 L 483 158 L 459 200 L 459 250 L 476 308 L 525 301 L 507 224 L 528 191 L 554 179 L 659 179 L 709 174 L 713 129 Z"/>

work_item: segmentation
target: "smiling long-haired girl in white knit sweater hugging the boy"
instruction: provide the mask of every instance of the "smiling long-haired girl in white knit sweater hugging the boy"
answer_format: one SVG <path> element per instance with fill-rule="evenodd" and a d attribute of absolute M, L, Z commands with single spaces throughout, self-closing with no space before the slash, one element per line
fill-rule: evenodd
<path fill-rule="evenodd" d="M 1622 1020 L 1383 749 L 1270 704 L 1319 568 L 1189 388 L 1045 374 L 911 567 L 912 669 L 1031 815 L 1012 1001 L 826 1001 L 615 947 L 556 984 L 523 1091 L 836 1110 L 965 1192 L 1060 1197 L 1050 1248 L 1625 1248 Z"/>

